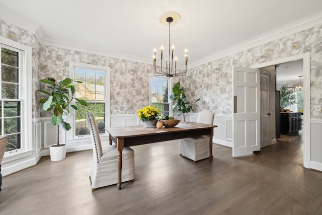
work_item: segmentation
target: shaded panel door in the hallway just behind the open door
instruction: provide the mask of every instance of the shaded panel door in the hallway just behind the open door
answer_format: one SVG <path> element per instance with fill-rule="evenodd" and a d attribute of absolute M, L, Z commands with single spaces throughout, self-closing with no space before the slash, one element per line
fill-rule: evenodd
<path fill-rule="evenodd" d="M 265 71 L 260 74 L 261 90 L 261 148 L 271 145 L 270 126 L 270 79 L 271 76 Z"/>

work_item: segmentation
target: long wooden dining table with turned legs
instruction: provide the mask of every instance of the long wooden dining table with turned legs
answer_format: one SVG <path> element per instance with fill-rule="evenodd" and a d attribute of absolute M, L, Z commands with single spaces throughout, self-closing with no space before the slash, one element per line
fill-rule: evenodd
<path fill-rule="evenodd" d="M 110 145 L 112 145 L 112 141 L 114 141 L 118 151 L 118 189 L 120 190 L 122 188 L 122 151 L 124 147 L 208 135 L 209 161 L 211 162 L 212 136 L 214 127 L 217 127 L 217 125 L 196 122 L 180 122 L 175 127 L 163 128 L 148 128 L 145 127 L 145 125 L 106 128 L 107 132 L 109 132 Z"/>

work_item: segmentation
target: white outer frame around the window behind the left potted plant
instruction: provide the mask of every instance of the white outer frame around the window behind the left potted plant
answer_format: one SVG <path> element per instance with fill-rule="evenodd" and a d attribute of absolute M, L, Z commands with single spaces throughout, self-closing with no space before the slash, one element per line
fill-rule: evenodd
<path fill-rule="evenodd" d="M 111 77 L 110 77 L 110 67 L 109 66 L 100 66 L 100 65 L 94 65 L 94 64 L 88 64 L 88 63 L 79 63 L 79 62 L 69 62 L 69 77 L 71 77 L 72 80 L 74 80 L 75 74 L 74 74 L 74 68 L 85 68 L 85 69 L 97 69 L 97 70 L 103 70 L 105 72 L 105 86 L 104 86 L 104 95 L 105 95 L 105 106 L 104 106 L 104 113 L 105 113 L 105 127 L 111 126 L 111 101 L 110 101 L 110 83 L 111 83 Z M 73 104 L 75 104 L 75 101 L 72 101 Z M 69 123 L 71 124 L 71 130 L 72 132 L 68 132 L 68 140 L 73 139 L 86 139 L 90 138 L 90 134 L 88 135 L 75 135 L 75 110 L 71 109 L 69 114 Z M 100 133 L 101 136 L 108 136 L 107 132 Z"/>

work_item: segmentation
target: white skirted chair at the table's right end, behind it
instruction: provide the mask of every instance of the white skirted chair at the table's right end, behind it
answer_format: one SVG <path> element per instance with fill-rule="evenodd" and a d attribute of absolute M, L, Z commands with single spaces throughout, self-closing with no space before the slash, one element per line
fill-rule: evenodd
<path fill-rule="evenodd" d="M 197 122 L 204 124 L 213 124 L 215 114 L 203 110 L 198 113 Z M 197 162 L 209 158 L 209 136 L 189 137 L 179 140 L 180 155 Z"/>

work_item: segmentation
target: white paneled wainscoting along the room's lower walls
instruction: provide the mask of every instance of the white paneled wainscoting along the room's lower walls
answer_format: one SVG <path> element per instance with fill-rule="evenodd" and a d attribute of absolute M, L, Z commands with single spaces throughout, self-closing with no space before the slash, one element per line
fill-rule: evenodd
<path fill-rule="evenodd" d="M 186 114 L 186 121 L 197 121 L 197 113 Z M 183 119 L 181 115 L 174 114 L 175 118 Z M 322 171 L 322 158 L 319 156 L 322 152 L 322 120 L 311 120 L 311 159 L 310 168 Z M 111 127 L 131 126 L 144 124 L 140 121 L 136 114 L 127 115 L 111 115 Z M 214 128 L 213 142 L 226 147 L 232 147 L 232 115 L 215 114 L 214 124 L 218 127 Z M 37 120 L 33 119 L 33 148 L 21 155 L 5 158 L 3 160 L 2 174 L 4 176 L 17 172 L 19 170 L 36 165 L 41 156 L 49 155 L 49 146 L 56 142 L 57 128 L 50 124 L 50 117 L 42 117 Z M 65 141 L 66 132 L 60 130 L 60 141 Z M 102 141 L 107 141 L 108 136 L 102 136 Z M 75 152 L 86 149 L 92 149 L 91 138 L 69 140 L 67 144 L 67 152 Z"/>

